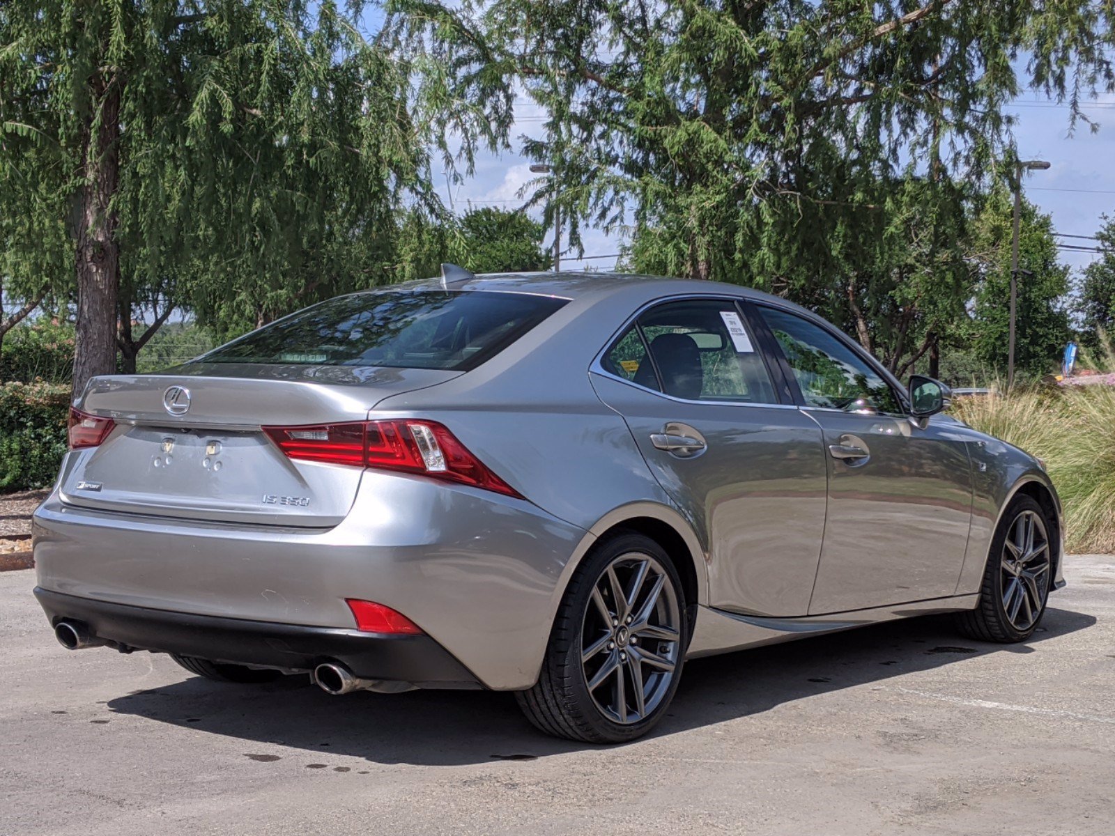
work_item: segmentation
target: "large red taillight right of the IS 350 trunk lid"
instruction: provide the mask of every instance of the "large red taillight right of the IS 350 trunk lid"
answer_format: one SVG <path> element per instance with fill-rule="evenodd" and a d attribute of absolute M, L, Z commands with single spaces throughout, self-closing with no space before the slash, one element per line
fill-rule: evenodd
<path fill-rule="evenodd" d="M 437 421 L 379 420 L 263 431 L 290 458 L 416 473 L 522 498 Z"/>

